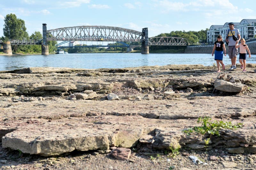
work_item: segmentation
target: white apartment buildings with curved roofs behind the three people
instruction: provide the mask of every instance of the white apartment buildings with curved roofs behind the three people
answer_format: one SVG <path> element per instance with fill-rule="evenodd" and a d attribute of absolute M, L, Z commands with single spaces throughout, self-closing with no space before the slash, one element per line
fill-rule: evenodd
<path fill-rule="evenodd" d="M 212 25 L 207 31 L 207 43 L 214 43 L 219 34 L 225 40 L 227 31 L 229 30 L 228 23 L 226 22 L 224 25 Z M 256 19 L 242 19 L 240 23 L 234 22 L 234 27 L 239 30 L 241 38 L 245 40 L 253 39 L 256 34 Z"/>

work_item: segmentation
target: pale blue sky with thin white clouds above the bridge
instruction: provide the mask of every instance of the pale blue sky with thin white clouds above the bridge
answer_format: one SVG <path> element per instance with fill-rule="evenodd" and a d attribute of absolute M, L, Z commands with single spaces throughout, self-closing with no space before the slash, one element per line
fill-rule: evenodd
<path fill-rule="evenodd" d="M 116 26 L 148 36 L 171 31 L 200 31 L 211 25 L 256 19 L 255 0 L 1 0 L 0 36 L 4 17 L 15 13 L 27 32 L 81 25 Z"/>

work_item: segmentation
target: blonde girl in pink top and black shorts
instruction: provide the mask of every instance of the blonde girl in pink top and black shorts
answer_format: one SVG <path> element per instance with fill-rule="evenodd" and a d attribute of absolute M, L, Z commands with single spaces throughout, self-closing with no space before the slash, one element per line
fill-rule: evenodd
<path fill-rule="evenodd" d="M 246 50 L 248 51 L 249 53 L 249 58 L 251 57 L 251 52 L 248 48 L 248 46 L 245 44 L 245 39 L 242 38 L 241 39 L 241 44 L 238 45 L 238 42 L 236 44 L 236 48 L 240 48 L 240 51 L 239 51 L 239 62 L 241 63 L 241 69 L 243 69 L 243 72 L 246 71 L 245 67 L 246 67 L 246 57 L 247 57 L 247 54 L 246 54 Z"/>

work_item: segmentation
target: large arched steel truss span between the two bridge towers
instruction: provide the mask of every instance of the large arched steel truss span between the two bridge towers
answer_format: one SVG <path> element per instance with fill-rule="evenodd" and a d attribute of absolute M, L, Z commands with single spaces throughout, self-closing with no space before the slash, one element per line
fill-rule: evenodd
<path fill-rule="evenodd" d="M 138 41 L 142 32 L 111 26 L 74 26 L 46 31 L 47 41 Z"/>

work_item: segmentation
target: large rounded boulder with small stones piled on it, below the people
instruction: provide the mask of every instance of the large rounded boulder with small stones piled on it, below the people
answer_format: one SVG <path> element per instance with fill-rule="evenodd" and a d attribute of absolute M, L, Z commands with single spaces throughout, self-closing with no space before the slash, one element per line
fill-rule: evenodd
<path fill-rule="evenodd" d="M 214 88 L 225 92 L 241 92 L 247 89 L 247 86 L 241 83 L 231 83 L 225 80 L 216 79 Z"/>

